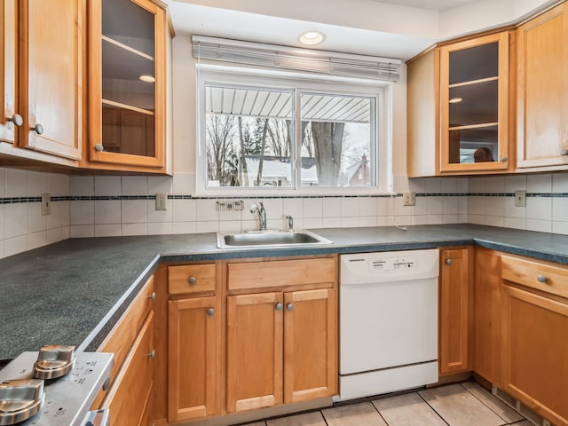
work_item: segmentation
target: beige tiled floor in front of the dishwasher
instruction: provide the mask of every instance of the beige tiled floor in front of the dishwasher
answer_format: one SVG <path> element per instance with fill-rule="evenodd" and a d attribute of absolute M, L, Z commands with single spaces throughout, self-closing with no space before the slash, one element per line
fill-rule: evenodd
<path fill-rule="evenodd" d="M 449 384 L 247 426 L 532 426 L 474 382 Z"/>

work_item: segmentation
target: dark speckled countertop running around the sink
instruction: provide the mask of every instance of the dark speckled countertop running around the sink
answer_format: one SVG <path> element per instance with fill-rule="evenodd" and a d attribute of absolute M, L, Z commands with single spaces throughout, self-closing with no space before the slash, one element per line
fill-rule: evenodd
<path fill-rule="evenodd" d="M 568 264 L 568 236 L 482 225 L 317 229 L 333 245 L 218 249 L 215 233 L 59 241 L 0 259 L 0 359 L 42 344 L 95 351 L 160 262 L 477 244 Z"/>

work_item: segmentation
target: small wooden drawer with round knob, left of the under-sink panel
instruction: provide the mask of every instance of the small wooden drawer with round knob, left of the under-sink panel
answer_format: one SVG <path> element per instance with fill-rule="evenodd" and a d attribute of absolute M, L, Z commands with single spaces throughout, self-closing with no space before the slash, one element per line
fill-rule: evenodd
<path fill-rule="evenodd" d="M 168 267 L 170 295 L 215 291 L 216 278 L 215 264 L 187 264 Z"/>

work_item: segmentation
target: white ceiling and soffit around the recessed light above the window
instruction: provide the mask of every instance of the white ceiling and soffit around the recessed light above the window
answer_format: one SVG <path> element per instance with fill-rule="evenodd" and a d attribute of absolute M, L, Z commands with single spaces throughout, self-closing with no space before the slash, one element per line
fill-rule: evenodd
<path fill-rule="evenodd" d="M 518 22 L 556 0 L 164 0 L 177 36 L 214 36 L 410 59 L 440 40 Z"/>

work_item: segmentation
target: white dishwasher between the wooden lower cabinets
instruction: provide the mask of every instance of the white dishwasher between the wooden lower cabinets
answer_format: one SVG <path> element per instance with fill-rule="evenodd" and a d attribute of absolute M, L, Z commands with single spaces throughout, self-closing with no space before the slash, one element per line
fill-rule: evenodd
<path fill-rule="evenodd" d="M 339 399 L 438 382 L 438 250 L 340 258 Z"/>

